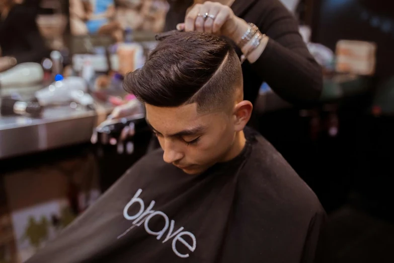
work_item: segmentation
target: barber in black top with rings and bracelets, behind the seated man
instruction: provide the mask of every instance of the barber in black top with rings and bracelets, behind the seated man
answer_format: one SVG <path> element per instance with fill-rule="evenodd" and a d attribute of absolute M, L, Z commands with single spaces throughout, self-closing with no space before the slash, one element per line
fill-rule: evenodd
<path fill-rule="evenodd" d="M 241 37 L 253 23 L 263 35 L 259 46 L 242 64 L 245 99 L 254 103 L 266 82 L 282 99 L 305 105 L 316 102 L 323 88 L 320 65 L 309 53 L 294 16 L 279 0 L 168 0 L 165 31 L 208 32 L 230 38 L 238 44 L 237 53 L 245 54 Z M 204 18 L 204 14 L 208 16 Z M 133 112 L 122 106 L 112 118 Z"/>

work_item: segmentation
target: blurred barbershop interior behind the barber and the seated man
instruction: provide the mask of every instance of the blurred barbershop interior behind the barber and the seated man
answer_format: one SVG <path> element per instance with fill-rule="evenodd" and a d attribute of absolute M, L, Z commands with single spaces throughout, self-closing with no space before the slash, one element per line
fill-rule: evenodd
<path fill-rule="evenodd" d="M 142 67 L 169 10 L 165 0 L 15 2 L 0 21 L 1 263 L 27 260 L 151 147 L 143 110 L 107 117 L 135 102 L 123 76 Z M 263 83 L 259 131 L 326 209 L 333 262 L 394 262 L 394 2 L 281 2 L 324 88 L 300 107 Z"/>

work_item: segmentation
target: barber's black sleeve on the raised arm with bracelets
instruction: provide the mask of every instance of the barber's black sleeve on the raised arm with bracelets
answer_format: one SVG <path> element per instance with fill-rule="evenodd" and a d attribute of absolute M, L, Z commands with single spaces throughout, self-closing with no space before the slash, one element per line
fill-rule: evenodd
<path fill-rule="evenodd" d="M 306 48 L 295 18 L 278 0 L 259 1 L 257 7 L 256 25 L 270 39 L 252 64 L 254 71 L 291 103 L 316 101 L 323 87 L 322 69 Z"/>

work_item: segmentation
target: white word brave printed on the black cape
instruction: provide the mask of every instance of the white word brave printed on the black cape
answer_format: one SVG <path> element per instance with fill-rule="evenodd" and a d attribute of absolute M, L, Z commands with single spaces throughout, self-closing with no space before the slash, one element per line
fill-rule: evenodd
<path fill-rule="evenodd" d="M 168 218 L 168 216 L 166 214 L 164 214 L 161 211 L 154 211 L 154 210 L 152 210 L 153 206 L 155 204 L 154 201 L 150 202 L 150 205 L 148 206 L 148 208 L 146 210 L 144 210 L 145 209 L 145 205 L 143 203 L 143 200 L 138 197 L 141 194 L 141 192 L 142 192 L 142 190 L 138 189 L 138 191 L 135 193 L 134 197 L 124 207 L 124 209 L 123 209 L 123 216 L 124 216 L 124 218 L 127 219 L 127 220 L 134 220 L 134 221 L 132 222 L 133 226 L 131 228 L 127 229 L 122 235 L 118 236 L 118 238 L 120 238 L 123 235 L 125 235 L 133 227 L 140 226 L 143 223 L 146 233 L 148 233 L 150 235 L 153 235 L 153 236 L 156 236 L 156 239 L 160 240 L 163 237 L 164 233 L 168 230 L 168 228 L 170 226 L 170 229 L 169 229 L 169 231 L 167 233 L 166 238 L 163 240 L 163 243 L 167 242 L 168 240 L 170 240 L 171 238 L 173 238 L 175 236 L 174 239 L 173 239 L 173 243 L 172 243 L 172 248 L 173 248 L 174 253 L 177 256 L 179 256 L 179 257 L 183 257 L 183 258 L 189 257 L 189 254 L 181 254 L 176 249 L 176 243 L 177 243 L 177 241 L 181 242 L 190 251 L 193 252 L 196 249 L 196 244 L 197 244 L 196 237 L 192 233 L 190 233 L 188 231 L 181 232 L 183 230 L 183 227 L 181 227 L 177 231 L 173 232 L 174 231 L 174 226 L 175 226 L 175 221 L 171 220 L 171 223 L 170 223 L 169 222 L 170 220 L 169 220 L 169 218 Z M 135 214 L 133 216 L 130 216 L 128 214 L 128 210 L 131 207 L 131 205 L 133 205 L 134 203 L 139 204 L 140 208 L 139 208 L 139 211 L 138 211 L 137 214 Z M 149 226 L 148 226 L 149 225 L 149 220 L 152 219 L 154 216 L 161 216 L 165 220 L 165 226 L 159 232 L 151 231 L 149 229 Z M 191 237 L 191 239 L 193 240 L 193 244 L 190 245 L 188 242 L 186 242 L 185 239 L 182 238 L 182 236 L 189 236 L 189 237 Z"/>

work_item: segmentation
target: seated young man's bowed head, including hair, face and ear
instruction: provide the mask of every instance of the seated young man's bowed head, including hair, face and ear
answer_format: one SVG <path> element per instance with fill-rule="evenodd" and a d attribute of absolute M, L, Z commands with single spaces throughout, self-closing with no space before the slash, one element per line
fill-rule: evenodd
<path fill-rule="evenodd" d="M 125 89 L 146 106 L 164 160 L 200 173 L 242 150 L 252 104 L 243 100 L 240 60 L 227 41 L 179 32 L 157 44 Z"/>

